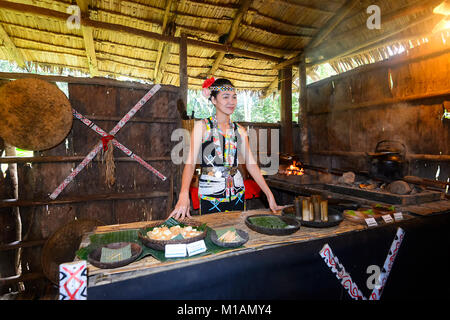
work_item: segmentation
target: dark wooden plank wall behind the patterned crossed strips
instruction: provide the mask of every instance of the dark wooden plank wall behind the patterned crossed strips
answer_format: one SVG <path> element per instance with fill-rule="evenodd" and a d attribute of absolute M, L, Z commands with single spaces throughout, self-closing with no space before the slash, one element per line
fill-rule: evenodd
<path fill-rule="evenodd" d="M 148 89 L 69 84 L 69 100 L 74 109 L 88 118 L 92 116 L 98 126 L 109 132 L 147 91 Z M 162 86 L 116 135 L 117 140 L 135 154 L 144 160 L 150 159 L 147 162 L 164 174 L 166 181 L 160 180 L 137 162 L 128 161 L 129 158 L 115 148 L 114 158 L 122 160 L 115 162 L 116 182 L 114 186 L 108 187 L 105 182 L 106 163 L 97 161 L 101 160 L 100 152 L 96 161 L 92 161 L 81 171 L 56 199 L 77 198 L 76 202 L 27 205 L 20 208 L 23 241 L 47 239 L 74 219 L 94 219 L 103 224 L 165 219 L 168 206 L 171 207 L 168 203 L 171 179 L 176 172 L 170 152 L 176 143 L 171 141 L 171 133 L 180 124 L 177 99 L 178 88 Z M 65 141 L 52 149 L 35 152 L 35 156 L 84 157 L 99 141 L 98 134 L 74 119 L 72 130 Z M 153 158 L 157 159 L 152 160 Z M 50 200 L 48 196 L 80 162 L 81 160 L 19 164 L 19 199 Z M 148 196 L 153 193 L 160 196 Z M 139 196 L 140 194 L 144 195 Z M 134 198 L 134 195 L 138 196 Z M 96 196 L 105 197 L 105 200 L 83 201 L 83 197 Z M 114 196 L 114 200 L 108 200 L 110 196 Z M 26 266 L 24 273 L 42 270 L 41 252 L 40 246 L 23 248 L 22 265 Z"/>

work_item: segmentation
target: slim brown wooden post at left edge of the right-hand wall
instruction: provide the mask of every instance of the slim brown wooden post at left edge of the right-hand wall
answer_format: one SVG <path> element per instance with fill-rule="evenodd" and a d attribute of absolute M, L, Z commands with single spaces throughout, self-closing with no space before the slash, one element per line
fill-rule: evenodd
<path fill-rule="evenodd" d="M 306 60 L 302 54 L 299 69 L 300 94 L 298 124 L 300 127 L 301 154 L 304 162 L 309 163 L 309 133 L 308 133 L 308 95 L 306 87 Z"/>

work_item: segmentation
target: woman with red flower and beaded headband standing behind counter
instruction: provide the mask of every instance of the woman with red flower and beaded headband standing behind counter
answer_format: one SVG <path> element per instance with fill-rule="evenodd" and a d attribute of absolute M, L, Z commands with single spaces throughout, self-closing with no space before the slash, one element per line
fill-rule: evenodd
<path fill-rule="evenodd" d="M 203 83 L 202 93 L 214 104 L 216 114 L 194 124 L 190 151 L 181 179 L 180 196 L 169 218 L 191 217 L 189 186 L 200 150 L 200 214 L 245 210 L 245 188 L 242 175 L 237 169 L 238 163 L 241 162 L 238 158 L 244 160 L 247 171 L 266 194 L 270 209 L 273 212 L 282 209 L 283 207 L 277 205 L 250 152 L 246 130 L 231 121 L 231 115 L 237 105 L 232 83 L 227 79 L 207 79 Z"/>

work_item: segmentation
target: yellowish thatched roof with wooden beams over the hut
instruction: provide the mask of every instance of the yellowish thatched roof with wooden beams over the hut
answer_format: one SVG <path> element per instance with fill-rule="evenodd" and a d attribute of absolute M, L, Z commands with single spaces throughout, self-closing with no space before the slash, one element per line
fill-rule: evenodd
<path fill-rule="evenodd" d="M 386 46 L 430 33 L 442 0 L 12 0 L 0 1 L 0 59 L 179 85 L 179 41 L 187 36 L 189 88 L 208 75 L 239 89 L 277 89 L 278 71 L 304 52 L 309 72 L 337 72 L 386 58 Z M 69 29 L 79 5 L 81 27 Z M 381 9 L 380 30 L 366 27 Z M 68 13 L 69 12 L 69 13 Z M 76 22 L 76 20 L 73 20 Z M 287 62 L 286 62 L 287 61 Z"/>

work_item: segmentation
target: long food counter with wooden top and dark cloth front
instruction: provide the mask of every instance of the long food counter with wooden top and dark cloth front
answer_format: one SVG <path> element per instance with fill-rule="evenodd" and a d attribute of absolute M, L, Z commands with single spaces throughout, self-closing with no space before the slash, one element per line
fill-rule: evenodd
<path fill-rule="evenodd" d="M 263 211 L 268 213 L 268 211 Z M 329 244 L 365 296 L 369 265 L 383 266 L 397 228 L 405 230 L 400 252 L 383 297 L 449 298 L 449 211 L 375 228 L 344 220 L 338 227 L 302 226 L 290 236 L 266 236 L 243 221 L 261 211 L 196 216 L 212 228 L 236 226 L 247 231 L 243 249 L 175 262 L 153 257 L 120 269 L 89 268 L 88 299 L 350 299 L 319 251 Z M 138 228 L 145 222 L 99 227 L 96 232 Z M 86 242 L 84 242 L 86 245 Z M 82 244 L 83 246 L 83 244 Z"/>

